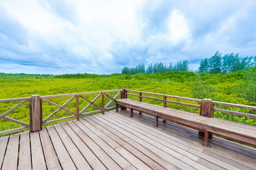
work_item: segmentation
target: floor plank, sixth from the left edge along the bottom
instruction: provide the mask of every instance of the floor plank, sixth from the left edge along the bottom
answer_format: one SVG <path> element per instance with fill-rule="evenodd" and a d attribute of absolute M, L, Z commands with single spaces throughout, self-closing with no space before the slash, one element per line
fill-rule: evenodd
<path fill-rule="evenodd" d="M 70 155 L 67 153 L 67 150 L 61 142 L 61 138 L 58 136 L 58 133 L 54 129 L 54 126 L 47 126 L 47 131 L 52 140 L 52 144 L 54 146 L 58 159 L 61 163 L 61 167 L 67 170 L 76 170 L 76 166 L 70 158 Z"/>

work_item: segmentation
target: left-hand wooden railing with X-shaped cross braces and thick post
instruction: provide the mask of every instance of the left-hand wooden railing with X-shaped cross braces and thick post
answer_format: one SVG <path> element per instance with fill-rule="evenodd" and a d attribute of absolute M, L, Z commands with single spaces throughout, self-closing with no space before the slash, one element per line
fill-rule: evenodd
<path fill-rule="evenodd" d="M 115 96 L 112 97 L 109 94 L 111 92 L 117 92 L 117 94 L 115 94 Z M 22 102 L 20 102 L 18 105 L 12 107 L 8 111 L 6 111 L 2 115 L 0 115 L 0 119 L 23 125 L 22 127 L 1 131 L 0 135 L 5 135 L 8 133 L 13 133 L 13 132 L 17 132 L 17 131 L 26 130 L 26 129 L 30 129 L 30 131 L 40 131 L 40 130 L 42 130 L 42 127 L 44 124 L 50 124 L 50 123 L 59 122 L 62 120 L 67 120 L 67 119 L 72 119 L 72 118 L 76 118 L 77 120 L 79 120 L 80 116 L 89 115 L 89 114 L 93 114 L 93 113 L 102 112 L 104 114 L 105 111 L 115 109 L 115 106 L 113 106 L 113 107 L 109 107 L 109 106 L 111 105 L 112 102 L 114 102 L 116 100 L 116 98 L 119 95 L 122 98 L 122 96 L 124 96 L 123 92 L 124 92 L 123 89 L 117 89 L 117 90 L 85 92 L 85 93 L 75 93 L 75 94 L 58 94 L 58 95 L 51 95 L 51 96 L 32 95 L 31 97 L 26 97 L 26 98 L 13 98 L 13 99 L 0 100 L 0 103 L 22 100 Z M 89 100 L 88 98 L 83 96 L 83 95 L 90 95 L 90 94 L 98 94 L 98 95 L 93 100 Z M 60 98 L 60 97 L 68 97 L 68 96 L 71 96 L 71 98 L 69 100 L 67 100 L 63 105 L 58 105 L 55 102 L 52 102 L 49 100 L 50 98 Z M 96 102 L 97 102 L 97 100 L 99 100 L 99 98 L 101 98 L 100 106 L 96 104 Z M 105 105 L 105 98 L 110 98 L 110 101 L 108 103 L 106 103 L 106 105 Z M 70 104 L 70 102 L 72 102 L 72 100 L 75 100 L 75 99 L 76 99 L 76 112 L 65 108 L 68 104 Z M 83 108 L 80 108 L 80 104 L 79 104 L 80 99 L 87 101 L 88 105 L 86 105 Z M 7 117 L 7 115 L 9 113 L 16 110 L 18 107 L 20 107 L 21 105 L 23 105 L 24 103 L 26 103 L 28 101 L 29 101 L 29 113 L 28 113 L 29 114 L 29 123 L 22 122 L 20 120 L 16 120 L 16 119 Z M 54 112 L 49 114 L 45 119 L 43 119 L 43 107 L 42 107 L 43 102 L 46 102 L 50 105 L 58 107 L 58 109 L 56 109 Z M 88 108 L 92 105 L 97 107 L 97 110 L 87 111 Z M 66 116 L 66 117 L 51 120 L 51 118 L 61 110 L 64 110 L 67 113 L 71 113 L 72 116 Z"/>

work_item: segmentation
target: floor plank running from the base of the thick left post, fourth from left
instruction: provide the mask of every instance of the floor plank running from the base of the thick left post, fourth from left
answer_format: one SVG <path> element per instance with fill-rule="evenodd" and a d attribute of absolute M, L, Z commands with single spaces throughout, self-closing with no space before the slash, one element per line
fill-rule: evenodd
<path fill-rule="evenodd" d="M 30 133 L 31 140 L 31 159 L 32 167 L 37 167 L 40 170 L 46 170 L 43 148 L 40 142 L 38 132 Z"/>

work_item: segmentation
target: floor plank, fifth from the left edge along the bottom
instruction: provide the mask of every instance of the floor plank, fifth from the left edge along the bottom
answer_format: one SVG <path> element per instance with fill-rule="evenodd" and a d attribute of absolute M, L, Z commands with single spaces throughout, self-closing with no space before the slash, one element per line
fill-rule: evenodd
<path fill-rule="evenodd" d="M 61 170 L 61 165 L 58 162 L 55 150 L 52 146 L 51 139 L 47 130 L 44 128 L 42 131 L 39 131 L 41 143 L 44 150 L 46 166 L 48 170 Z"/>

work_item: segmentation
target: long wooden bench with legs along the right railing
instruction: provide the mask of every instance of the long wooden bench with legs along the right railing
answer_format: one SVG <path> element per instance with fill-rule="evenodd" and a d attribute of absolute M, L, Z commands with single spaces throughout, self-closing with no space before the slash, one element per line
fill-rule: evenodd
<path fill-rule="evenodd" d="M 155 116 L 155 127 L 157 126 L 158 118 L 161 118 L 175 124 L 203 131 L 204 146 L 208 146 L 209 134 L 215 134 L 256 147 L 256 126 L 216 118 L 206 118 L 195 113 L 165 108 L 128 98 L 116 100 L 116 111 L 118 111 L 119 106 L 129 108 L 130 117 L 133 116 L 133 110 Z"/>

